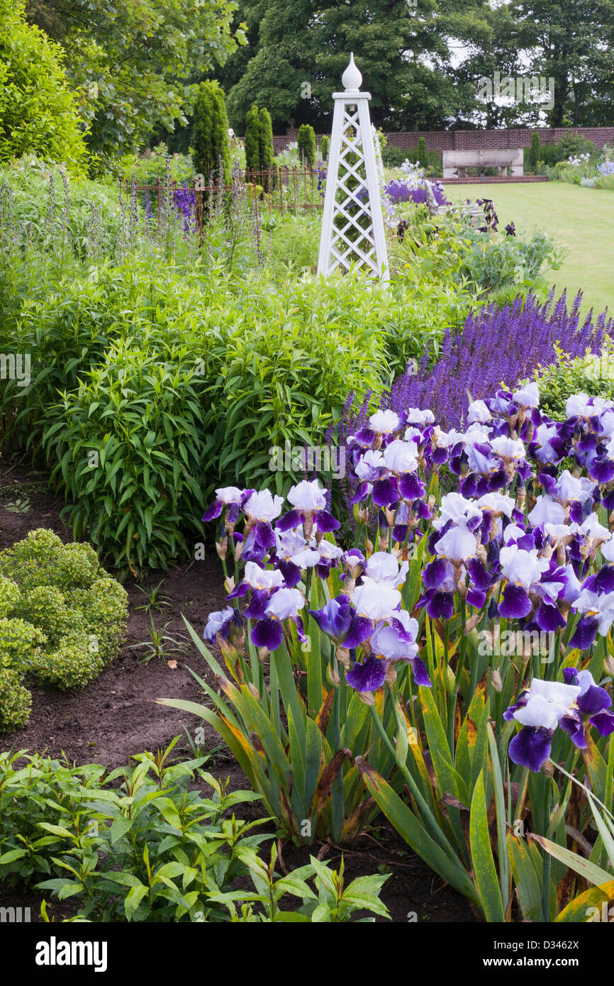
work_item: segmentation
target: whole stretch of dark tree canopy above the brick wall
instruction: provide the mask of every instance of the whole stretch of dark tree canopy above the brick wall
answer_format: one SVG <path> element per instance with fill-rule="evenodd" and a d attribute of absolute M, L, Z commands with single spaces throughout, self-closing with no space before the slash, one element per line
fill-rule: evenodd
<path fill-rule="evenodd" d="M 278 131 L 325 129 L 350 51 L 386 129 L 612 120 L 614 0 L 241 0 L 236 17 L 247 45 L 216 74 L 239 132 L 253 102 Z M 554 106 L 481 101 L 480 80 L 495 73 L 554 80 Z"/>

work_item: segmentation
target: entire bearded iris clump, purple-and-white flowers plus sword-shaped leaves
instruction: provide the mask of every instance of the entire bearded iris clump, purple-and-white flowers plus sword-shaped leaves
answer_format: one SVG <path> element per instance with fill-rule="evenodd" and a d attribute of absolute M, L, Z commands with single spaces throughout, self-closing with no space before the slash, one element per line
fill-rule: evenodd
<path fill-rule="evenodd" d="M 166 704 L 214 726 L 295 839 L 381 810 L 487 920 L 579 920 L 614 880 L 613 435 L 614 402 L 574 394 L 554 422 L 535 383 L 462 430 L 381 409 L 348 438 L 351 547 L 315 480 L 288 510 L 218 489 L 224 667 L 190 628 L 218 688 Z"/>

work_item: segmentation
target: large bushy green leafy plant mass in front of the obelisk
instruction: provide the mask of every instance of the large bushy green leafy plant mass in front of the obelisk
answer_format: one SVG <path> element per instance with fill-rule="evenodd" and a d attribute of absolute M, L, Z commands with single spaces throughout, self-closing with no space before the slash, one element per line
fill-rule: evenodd
<path fill-rule="evenodd" d="M 202 261 L 189 278 L 138 265 L 108 277 L 103 319 L 118 338 L 81 364 L 60 400 L 37 395 L 36 427 L 75 536 L 89 535 L 120 577 L 190 554 L 214 483 L 292 482 L 271 476 L 271 447 L 322 442 L 349 388 L 360 400 L 380 393 L 437 346 L 446 321 L 462 321 L 468 299 L 456 315 L 451 289 L 415 303 L 403 284 L 370 290 L 354 276 L 277 287 L 261 272 L 228 283 Z M 34 419 L 25 422 L 24 442 Z"/>

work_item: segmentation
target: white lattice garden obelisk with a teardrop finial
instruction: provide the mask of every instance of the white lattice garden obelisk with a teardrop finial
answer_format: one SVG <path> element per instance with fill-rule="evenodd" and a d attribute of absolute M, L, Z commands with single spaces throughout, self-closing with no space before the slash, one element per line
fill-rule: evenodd
<path fill-rule="evenodd" d="M 369 115 L 371 94 L 361 93 L 362 81 L 351 54 L 341 77 L 345 92 L 332 96 L 335 108 L 317 272 L 326 275 L 338 267 L 349 270 L 354 263 L 387 283 L 388 257 Z"/>

